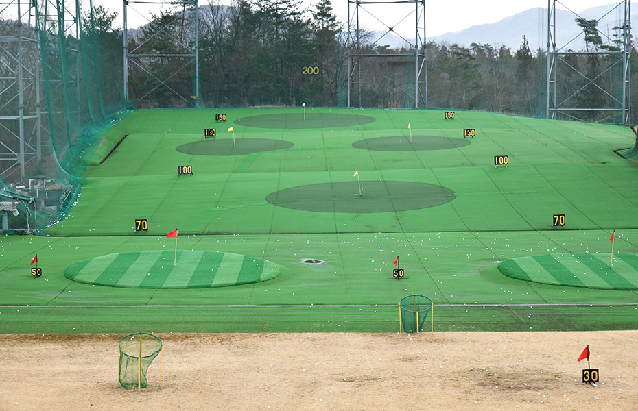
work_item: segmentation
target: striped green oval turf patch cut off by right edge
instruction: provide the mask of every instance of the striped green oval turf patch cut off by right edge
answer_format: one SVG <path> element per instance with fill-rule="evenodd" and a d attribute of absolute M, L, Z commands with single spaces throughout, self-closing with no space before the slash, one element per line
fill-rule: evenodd
<path fill-rule="evenodd" d="M 609 253 L 545 254 L 509 258 L 499 264 L 504 275 L 559 286 L 638 290 L 638 256 Z"/>

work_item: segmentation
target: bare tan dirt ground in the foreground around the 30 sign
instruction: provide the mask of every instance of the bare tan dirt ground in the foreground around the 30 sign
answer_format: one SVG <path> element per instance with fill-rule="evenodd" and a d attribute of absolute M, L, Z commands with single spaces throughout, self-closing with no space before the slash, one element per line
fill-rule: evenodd
<path fill-rule="evenodd" d="M 638 409 L 638 331 L 158 334 L 141 392 L 122 336 L 0 335 L 0 410 Z"/>

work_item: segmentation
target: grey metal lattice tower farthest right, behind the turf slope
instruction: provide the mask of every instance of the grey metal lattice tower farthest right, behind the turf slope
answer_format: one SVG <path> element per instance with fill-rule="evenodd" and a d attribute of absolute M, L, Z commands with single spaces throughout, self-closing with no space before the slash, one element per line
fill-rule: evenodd
<path fill-rule="evenodd" d="M 615 42 L 619 50 L 598 49 L 593 51 L 572 51 L 569 47 L 575 47 L 577 39 L 584 40 L 586 33 L 583 29 L 579 36 L 572 38 L 565 45 L 557 45 L 556 39 L 556 3 L 564 6 L 558 0 L 547 0 L 547 112 L 548 119 L 556 119 L 560 114 L 568 119 L 584 120 L 582 116 L 592 112 L 602 112 L 602 118 L 598 121 L 609 121 L 616 118 L 618 123 L 629 122 L 629 98 L 630 98 L 630 1 L 620 1 L 613 5 L 611 10 L 605 12 L 595 20 L 596 30 L 602 39 L 607 42 Z M 570 10 L 571 12 L 571 10 Z M 612 12 L 619 14 L 619 21 L 614 27 L 617 30 L 617 39 L 613 40 L 608 34 L 598 28 L 602 18 Z M 578 14 L 572 12 L 580 18 Z M 588 71 L 579 69 L 574 60 L 588 58 L 588 62 L 594 61 L 600 67 L 589 64 Z M 569 88 L 565 81 L 569 76 L 575 76 L 580 82 L 577 86 Z M 612 78 L 605 84 L 604 80 Z M 613 78 L 616 87 L 613 88 Z M 594 90 L 600 96 L 600 103 L 589 106 L 582 105 L 582 96 L 588 90 Z M 580 103 L 580 104 L 579 104 Z"/>

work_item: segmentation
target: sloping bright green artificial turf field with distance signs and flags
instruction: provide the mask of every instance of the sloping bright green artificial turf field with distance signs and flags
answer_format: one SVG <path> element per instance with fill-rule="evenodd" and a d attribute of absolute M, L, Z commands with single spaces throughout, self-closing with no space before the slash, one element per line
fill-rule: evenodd
<path fill-rule="evenodd" d="M 613 151 L 628 127 L 303 115 L 123 116 L 87 151 L 67 219 L 0 238 L 0 332 L 397 332 L 412 294 L 434 301 L 435 330 L 635 329 L 638 169 Z"/>

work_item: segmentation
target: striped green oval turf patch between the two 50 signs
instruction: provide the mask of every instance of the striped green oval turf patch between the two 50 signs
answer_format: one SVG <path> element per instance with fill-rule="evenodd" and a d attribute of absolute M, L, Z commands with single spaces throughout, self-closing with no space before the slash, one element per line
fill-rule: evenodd
<path fill-rule="evenodd" d="M 276 277 L 273 262 L 234 253 L 141 251 L 75 262 L 64 276 L 75 282 L 123 288 L 208 288 L 235 286 Z"/>

